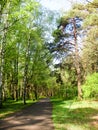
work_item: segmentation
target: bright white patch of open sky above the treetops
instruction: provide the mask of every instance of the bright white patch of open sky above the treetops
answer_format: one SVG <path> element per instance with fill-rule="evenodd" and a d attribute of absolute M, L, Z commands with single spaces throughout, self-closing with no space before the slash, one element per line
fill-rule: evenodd
<path fill-rule="evenodd" d="M 57 11 L 67 11 L 71 8 L 73 2 L 85 3 L 86 0 L 40 0 L 40 3 L 50 9 Z"/>

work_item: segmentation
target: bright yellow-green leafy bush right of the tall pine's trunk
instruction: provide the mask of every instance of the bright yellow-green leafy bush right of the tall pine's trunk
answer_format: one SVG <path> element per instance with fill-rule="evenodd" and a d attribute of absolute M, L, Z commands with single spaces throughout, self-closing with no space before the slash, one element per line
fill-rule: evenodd
<path fill-rule="evenodd" d="M 98 97 L 98 73 L 93 73 L 86 77 L 86 82 L 82 86 L 84 98 Z"/>

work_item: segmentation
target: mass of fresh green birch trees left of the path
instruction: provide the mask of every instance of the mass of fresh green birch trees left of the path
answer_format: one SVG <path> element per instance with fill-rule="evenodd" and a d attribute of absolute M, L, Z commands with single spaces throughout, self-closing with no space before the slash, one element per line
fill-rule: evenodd
<path fill-rule="evenodd" d="M 3 93 L 3 101 L 23 99 L 23 93 L 26 99 L 31 99 L 34 91 L 47 95 L 53 84 L 56 87 L 55 78 L 50 77 L 52 55 L 45 47 L 53 12 L 41 8 L 36 0 L 2 0 L 0 7 L 0 54 L 3 54 L 0 55 L 0 95 Z"/>

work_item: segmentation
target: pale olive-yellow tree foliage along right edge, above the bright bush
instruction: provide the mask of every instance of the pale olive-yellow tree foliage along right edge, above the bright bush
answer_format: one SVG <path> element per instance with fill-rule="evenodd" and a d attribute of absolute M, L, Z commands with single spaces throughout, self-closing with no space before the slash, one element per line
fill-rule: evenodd
<path fill-rule="evenodd" d="M 95 6 L 96 5 L 96 6 Z M 88 12 L 87 17 L 84 20 L 84 28 L 86 30 L 86 37 L 84 39 L 83 46 L 83 64 L 88 73 L 97 72 L 98 70 L 98 47 L 97 47 L 97 35 L 98 35 L 98 2 L 94 0 L 85 6 Z"/>

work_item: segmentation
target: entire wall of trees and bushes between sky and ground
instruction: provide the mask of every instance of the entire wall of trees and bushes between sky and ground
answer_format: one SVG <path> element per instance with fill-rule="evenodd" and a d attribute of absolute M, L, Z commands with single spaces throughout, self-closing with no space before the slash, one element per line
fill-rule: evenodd
<path fill-rule="evenodd" d="M 0 107 L 8 99 L 98 99 L 98 1 L 59 14 L 0 1 Z"/>

